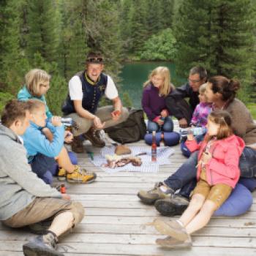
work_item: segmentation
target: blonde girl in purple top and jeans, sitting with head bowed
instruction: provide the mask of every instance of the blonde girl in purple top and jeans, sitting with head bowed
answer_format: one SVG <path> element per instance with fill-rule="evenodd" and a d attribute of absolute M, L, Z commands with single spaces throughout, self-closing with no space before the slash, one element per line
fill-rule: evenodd
<path fill-rule="evenodd" d="M 148 132 L 173 131 L 173 121 L 165 105 L 165 97 L 174 89 L 170 83 L 170 72 L 167 67 L 157 67 L 143 84 L 141 105 L 148 117 Z"/>

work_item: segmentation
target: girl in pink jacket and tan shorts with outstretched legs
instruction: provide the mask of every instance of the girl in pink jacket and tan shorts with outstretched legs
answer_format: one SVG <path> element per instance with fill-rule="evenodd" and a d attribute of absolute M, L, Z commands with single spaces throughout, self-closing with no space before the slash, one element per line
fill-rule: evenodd
<path fill-rule="evenodd" d="M 205 139 L 199 144 L 193 135 L 187 136 L 189 150 L 199 150 L 197 186 L 187 210 L 178 220 L 157 219 L 154 222 L 160 233 L 173 238 L 175 246 L 192 246 L 190 234 L 209 222 L 214 211 L 229 197 L 240 176 L 238 162 L 245 144 L 233 134 L 230 114 L 215 110 L 208 116 L 207 129 Z M 157 244 L 163 240 L 159 239 Z"/>

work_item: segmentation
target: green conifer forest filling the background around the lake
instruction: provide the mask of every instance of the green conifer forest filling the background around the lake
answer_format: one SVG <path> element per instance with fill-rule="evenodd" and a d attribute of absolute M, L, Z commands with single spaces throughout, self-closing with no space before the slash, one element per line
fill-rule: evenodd
<path fill-rule="evenodd" d="M 254 0 L 1 0 L 0 110 L 37 67 L 52 76 L 48 105 L 61 114 L 68 80 L 94 51 L 119 90 L 125 61 L 171 61 L 182 78 L 200 64 L 209 76 L 238 79 L 238 97 L 256 118 L 255 7 Z"/>

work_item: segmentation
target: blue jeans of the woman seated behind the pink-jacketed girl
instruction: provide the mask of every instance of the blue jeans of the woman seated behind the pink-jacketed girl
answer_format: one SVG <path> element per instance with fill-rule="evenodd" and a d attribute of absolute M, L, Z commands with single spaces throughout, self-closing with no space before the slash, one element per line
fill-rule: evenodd
<path fill-rule="evenodd" d="M 190 193 L 195 188 L 197 176 L 197 154 L 195 151 L 173 175 L 169 176 L 164 182 L 173 190 L 181 189 L 179 194 L 189 198 Z M 239 159 L 241 177 L 254 178 L 256 176 L 256 150 L 245 147 Z"/>

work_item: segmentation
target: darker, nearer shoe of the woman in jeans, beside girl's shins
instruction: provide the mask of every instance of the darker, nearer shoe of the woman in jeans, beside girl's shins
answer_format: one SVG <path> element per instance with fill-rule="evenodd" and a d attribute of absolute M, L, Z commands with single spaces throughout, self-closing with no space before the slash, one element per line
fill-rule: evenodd
<path fill-rule="evenodd" d="M 174 195 L 170 198 L 157 200 L 154 207 L 164 216 L 181 215 L 189 206 L 189 200 L 181 195 Z"/>

